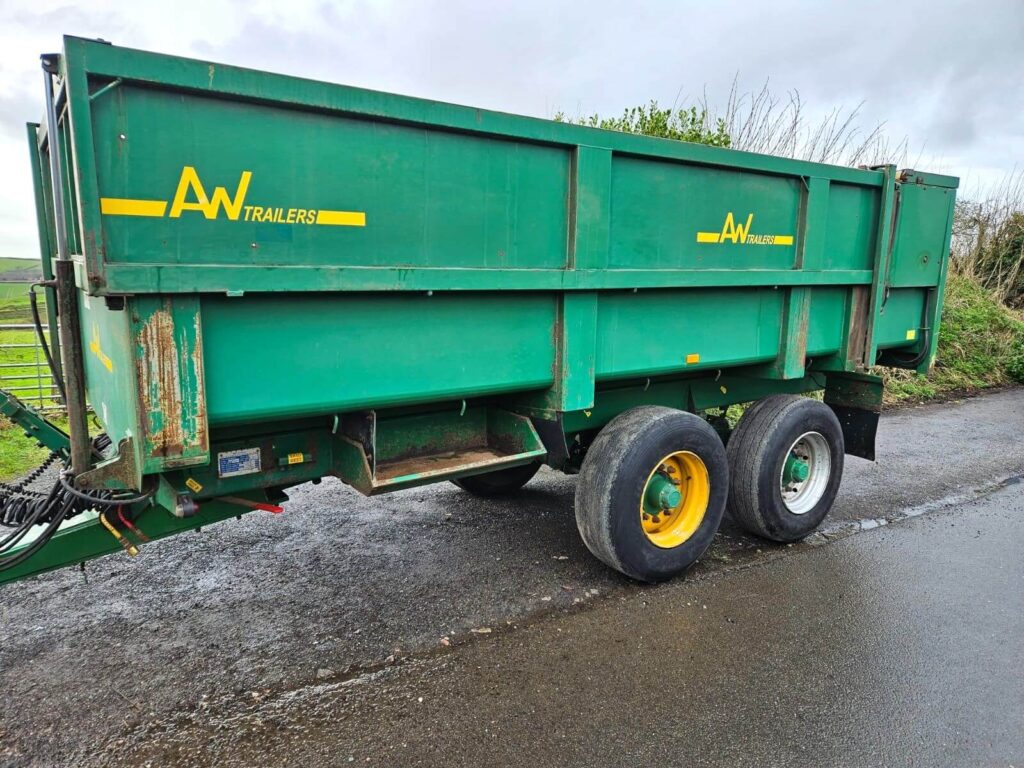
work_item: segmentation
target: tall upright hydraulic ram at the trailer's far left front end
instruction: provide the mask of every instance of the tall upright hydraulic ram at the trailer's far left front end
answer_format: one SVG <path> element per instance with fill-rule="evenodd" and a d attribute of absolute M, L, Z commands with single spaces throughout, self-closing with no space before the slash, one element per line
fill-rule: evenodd
<path fill-rule="evenodd" d="M 75 263 L 68 253 L 68 221 L 65 218 L 63 167 L 56 104 L 53 100 L 53 76 L 58 72 L 59 56 L 42 56 L 43 90 L 46 95 L 46 141 L 50 156 L 50 182 L 53 186 L 53 223 L 56 228 L 57 315 L 60 326 L 60 356 L 68 393 L 68 423 L 71 432 L 71 467 L 76 475 L 90 467 L 89 426 L 85 413 L 85 373 L 83 369 L 82 327 L 78 314 L 78 291 L 75 287 Z"/>

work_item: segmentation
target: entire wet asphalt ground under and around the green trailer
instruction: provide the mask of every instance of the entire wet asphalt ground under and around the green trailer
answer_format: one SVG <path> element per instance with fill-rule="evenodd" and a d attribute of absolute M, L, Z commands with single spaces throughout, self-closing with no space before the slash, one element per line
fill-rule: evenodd
<path fill-rule="evenodd" d="M 498 503 L 450 485 L 374 500 L 334 481 L 303 486 L 283 516 L 256 513 L 154 544 L 136 560 L 106 558 L 87 581 L 63 571 L 0 588 L 0 765 L 162 765 L 176 755 L 181 764 L 292 756 L 314 766 L 356 752 L 384 764 L 518 755 L 529 765 L 559 743 L 568 762 L 600 748 L 598 762 L 624 765 L 758 754 L 784 764 L 811 746 L 840 764 L 844 755 L 851 764 L 1020 761 L 1020 742 L 997 737 L 1008 717 L 1024 721 L 1020 486 L 978 489 L 1024 471 L 1022 427 L 1021 390 L 888 415 L 880 461 L 848 461 L 826 521 L 834 538 L 860 519 L 959 502 L 953 509 L 826 547 L 776 548 L 727 523 L 686 580 L 658 588 L 586 552 L 572 478 L 546 472 Z M 944 525 L 967 527 L 950 541 Z M 975 529 L 988 532 L 975 539 Z M 945 567 L 957 558 L 959 570 Z M 1011 569 L 996 572 L 1000 563 Z M 986 585 L 1000 573 L 1016 592 L 1004 585 L 985 610 Z M 774 586 L 758 592 L 763 574 Z M 698 602 L 708 604 L 699 618 L 683 621 Z M 638 627 L 658 640 L 634 642 Z M 988 649 L 976 657 L 981 640 Z M 834 647 L 846 655 L 825 664 Z M 945 674 L 925 674 L 933 669 Z M 677 689 L 672 708 L 658 707 L 658 692 Z M 770 741 L 777 761 L 757 752 L 775 732 L 770 711 L 785 724 Z M 486 713 L 503 734 L 494 749 L 505 752 L 481 752 Z M 929 752 L 954 725 L 949 713 L 982 725 L 949 731 L 939 741 L 948 749 Z M 680 723 L 690 746 L 670 758 Z M 664 738 L 639 739 L 651 729 Z M 876 752 L 854 752 L 858 743 Z M 256 759 L 264 749 L 272 758 Z"/>

